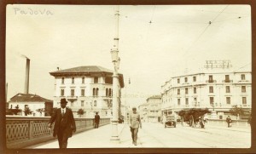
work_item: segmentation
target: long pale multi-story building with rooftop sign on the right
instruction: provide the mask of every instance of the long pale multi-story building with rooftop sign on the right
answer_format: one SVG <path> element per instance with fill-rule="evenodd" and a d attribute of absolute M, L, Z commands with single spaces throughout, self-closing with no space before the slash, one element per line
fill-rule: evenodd
<path fill-rule="evenodd" d="M 232 106 L 251 108 L 251 71 L 207 72 L 172 77 L 161 86 L 161 100 L 162 113 L 198 107 L 216 111 L 216 118 L 224 119 Z"/>

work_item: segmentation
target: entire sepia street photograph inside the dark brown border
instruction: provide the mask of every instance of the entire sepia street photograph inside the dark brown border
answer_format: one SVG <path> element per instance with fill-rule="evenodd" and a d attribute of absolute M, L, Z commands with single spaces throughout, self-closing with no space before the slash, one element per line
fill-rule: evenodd
<path fill-rule="evenodd" d="M 8 4 L 6 147 L 251 148 L 251 13 Z"/>

